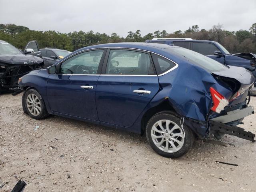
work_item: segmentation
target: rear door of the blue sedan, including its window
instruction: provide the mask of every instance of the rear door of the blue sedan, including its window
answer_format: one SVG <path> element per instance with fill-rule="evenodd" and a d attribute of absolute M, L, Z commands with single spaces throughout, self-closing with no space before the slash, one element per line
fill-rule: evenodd
<path fill-rule="evenodd" d="M 108 49 L 96 88 L 101 122 L 131 127 L 159 90 L 148 52 Z"/>

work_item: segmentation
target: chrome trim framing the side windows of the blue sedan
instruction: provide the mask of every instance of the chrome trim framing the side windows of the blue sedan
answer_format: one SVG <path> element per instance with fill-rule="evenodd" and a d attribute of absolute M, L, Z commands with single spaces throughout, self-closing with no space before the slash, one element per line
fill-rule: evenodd
<path fill-rule="evenodd" d="M 86 52 L 88 50 L 97 50 L 97 49 L 106 49 L 106 48 L 112 48 L 112 49 L 132 49 L 132 50 L 139 50 L 139 51 L 144 51 L 144 52 L 149 52 L 149 53 L 153 53 L 153 54 L 156 54 L 156 55 L 159 55 L 163 58 L 166 58 L 165 56 L 162 56 L 160 54 L 157 54 L 155 52 L 152 52 L 152 51 L 147 51 L 147 50 L 143 50 L 143 49 L 136 49 L 136 48 L 129 48 L 129 47 L 98 47 L 98 48 L 91 48 L 91 49 L 86 49 L 86 50 L 82 50 L 82 51 L 78 51 L 70 56 L 68 56 L 67 58 L 65 58 L 64 60 L 62 60 L 60 63 L 66 61 L 68 58 L 72 57 L 73 55 L 75 54 L 78 54 L 80 52 Z M 167 60 L 170 60 L 169 58 L 166 58 Z M 162 73 L 162 74 L 159 74 L 159 75 L 115 75 L 115 74 L 56 74 L 56 75 L 71 75 L 71 76 L 74 76 L 74 75 L 102 75 L 102 76 L 163 76 L 169 72 L 171 72 L 172 70 L 178 68 L 179 64 L 174 62 L 173 60 L 170 60 L 171 62 L 173 62 L 174 64 L 176 64 L 176 66 L 174 66 L 173 68 L 169 69 L 168 71 Z M 59 64 L 59 63 L 58 63 Z"/>

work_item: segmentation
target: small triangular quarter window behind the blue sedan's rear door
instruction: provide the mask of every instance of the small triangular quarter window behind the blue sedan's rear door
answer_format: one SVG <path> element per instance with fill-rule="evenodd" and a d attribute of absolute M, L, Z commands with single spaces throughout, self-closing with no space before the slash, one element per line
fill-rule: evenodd
<path fill-rule="evenodd" d="M 176 66 L 176 64 L 174 62 L 172 62 L 162 56 L 156 55 L 156 54 L 152 54 L 152 59 L 155 64 L 155 67 L 156 67 L 156 73 L 158 75 L 160 75 L 160 74 L 170 70 L 174 66 Z"/>

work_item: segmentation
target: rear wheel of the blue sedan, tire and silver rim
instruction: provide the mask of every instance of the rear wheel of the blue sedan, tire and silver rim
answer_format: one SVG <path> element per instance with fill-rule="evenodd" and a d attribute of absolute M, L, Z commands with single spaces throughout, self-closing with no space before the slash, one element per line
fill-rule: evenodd
<path fill-rule="evenodd" d="M 176 116 L 162 112 L 148 121 L 146 126 L 148 143 L 155 152 L 168 158 L 178 158 L 194 143 L 194 134 L 190 128 L 180 125 L 180 119 Z"/>

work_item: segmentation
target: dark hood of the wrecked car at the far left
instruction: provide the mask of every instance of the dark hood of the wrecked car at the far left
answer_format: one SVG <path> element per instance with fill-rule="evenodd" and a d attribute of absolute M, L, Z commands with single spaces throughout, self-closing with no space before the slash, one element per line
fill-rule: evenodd
<path fill-rule="evenodd" d="M 42 63 L 43 60 L 32 55 L 0 55 L 0 62 L 14 65 L 33 65 Z"/>

